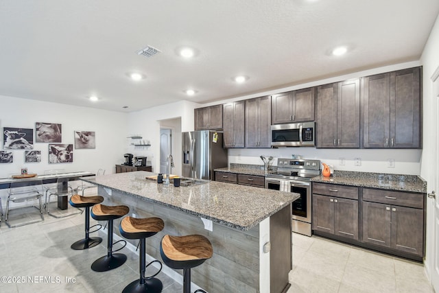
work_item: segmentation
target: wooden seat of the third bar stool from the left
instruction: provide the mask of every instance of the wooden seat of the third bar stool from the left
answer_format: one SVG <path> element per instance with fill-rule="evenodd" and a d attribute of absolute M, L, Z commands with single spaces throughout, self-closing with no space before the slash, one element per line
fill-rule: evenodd
<path fill-rule="evenodd" d="M 165 223 L 161 218 L 132 218 L 130 216 L 121 220 L 120 232 L 128 239 L 141 239 L 151 237 L 163 230 Z"/>

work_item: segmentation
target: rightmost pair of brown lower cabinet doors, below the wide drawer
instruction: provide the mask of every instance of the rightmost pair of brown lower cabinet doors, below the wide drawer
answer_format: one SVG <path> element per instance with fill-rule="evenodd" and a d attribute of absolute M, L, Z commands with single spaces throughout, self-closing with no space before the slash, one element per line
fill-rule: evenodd
<path fill-rule="evenodd" d="M 363 241 L 423 256 L 422 209 L 363 202 Z"/>

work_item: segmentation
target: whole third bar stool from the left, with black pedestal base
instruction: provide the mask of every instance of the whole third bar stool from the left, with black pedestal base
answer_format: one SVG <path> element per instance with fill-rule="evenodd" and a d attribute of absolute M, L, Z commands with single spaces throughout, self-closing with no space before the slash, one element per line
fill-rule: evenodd
<path fill-rule="evenodd" d="M 158 260 L 151 261 L 145 266 L 146 263 L 146 242 L 145 238 L 156 235 L 163 230 L 165 223 L 161 218 L 132 218 L 130 216 L 121 220 L 119 231 L 123 237 L 127 239 L 139 239 L 140 240 L 140 259 L 139 259 L 139 272 L 140 279 L 132 281 L 122 291 L 122 293 L 129 292 L 162 292 L 163 284 L 159 279 L 156 279 L 156 275 L 161 272 L 162 264 Z M 160 270 L 150 277 L 145 277 L 145 272 L 148 266 L 152 263 L 160 263 Z"/>

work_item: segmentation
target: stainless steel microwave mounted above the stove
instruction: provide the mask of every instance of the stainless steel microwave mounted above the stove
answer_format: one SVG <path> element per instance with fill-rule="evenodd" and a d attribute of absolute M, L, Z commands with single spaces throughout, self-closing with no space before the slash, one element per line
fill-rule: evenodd
<path fill-rule="evenodd" d="M 316 146 L 316 122 L 272 125 L 272 147 Z"/>

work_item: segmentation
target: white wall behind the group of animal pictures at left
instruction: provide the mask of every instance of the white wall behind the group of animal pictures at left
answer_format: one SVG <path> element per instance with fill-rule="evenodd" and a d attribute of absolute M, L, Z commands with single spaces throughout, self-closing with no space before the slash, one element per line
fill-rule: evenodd
<path fill-rule="evenodd" d="M 48 169 L 63 169 L 65 172 L 97 172 L 99 168 L 106 169 L 106 174 L 111 174 L 115 172 L 115 163 L 123 162 L 123 146 L 128 129 L 126 113 L 3 95 L 0 95 L 0 104 L 2 133 L 3 127 L 35 130 L 36 122 L 57 123 L 62 124 L 62 143 L 73 144 L 73 163 L 49 164 L 49 143 L 34 142 L 34 150 L 41 151 L 40 163 L 24 163 L 25 150 L 12 150 L 14 161 L 0 164 L 0 178 L 20 174 L 21 167 L 27 167 L 28 173 L 36 174 L 44 174 Z M 95 131 L 96 148 L 75 150 L 73 134 L 75 130 Z M 6 191 L 1 190 L 0 194 L 5 204 Z"/>

